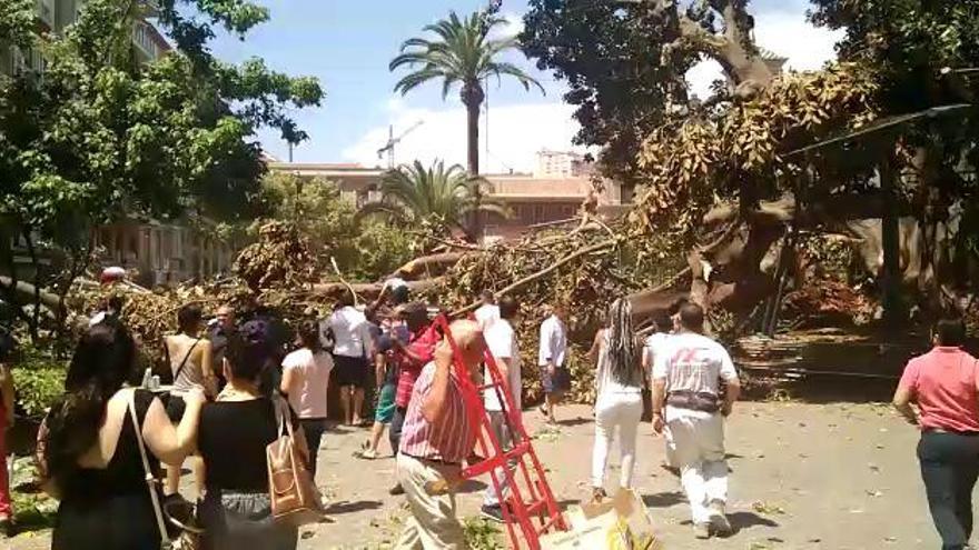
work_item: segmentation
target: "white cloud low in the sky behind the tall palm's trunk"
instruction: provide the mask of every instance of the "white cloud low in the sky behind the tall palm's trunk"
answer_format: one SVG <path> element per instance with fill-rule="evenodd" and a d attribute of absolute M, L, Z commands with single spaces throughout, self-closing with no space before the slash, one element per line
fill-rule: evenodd
<path fill-rule="evenodd" d="M 530 172 L 535 153 L 541 149 L 577 150 L 572 138 L 578 126 L 572 119 L 574 108 L 564 103 L 492 106 L 490 109 L 490 154 L 486 154 L 485 117 L 479 124 L 479 164 L 483 172 Z M 400 108 L 392 113 L 395 136 L 422 121 L 395 147 L 395 163 L 421 160 L 431 163 L 466 163 L 466 111 L 462 106 L 445 109 Z M 353 146 L 344 149 L 347 161 L 364 166 L 385 166 L 377 150 L 387 142 L 387 127 L 365 132 Z"/>

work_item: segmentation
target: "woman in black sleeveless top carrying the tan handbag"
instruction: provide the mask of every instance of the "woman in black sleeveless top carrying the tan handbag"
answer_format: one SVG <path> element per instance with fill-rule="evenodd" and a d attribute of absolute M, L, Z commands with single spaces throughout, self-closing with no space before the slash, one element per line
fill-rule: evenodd
<path fill-rule="evenodd" d="M 278 438 L 275 403 L 259 388 L 268 359 L 263 342 L 234 337 L 225 354 L 225 389 L 204 407 L 197 449 L 207 492 L 201 506 L 206 550 L 295 550 L 297 529 L 275 523 L 266 447 Z M 280 399 L 280 398 L 276 398 Z M 295 416 L 290 419 L 297 424 Z M 296 429 L 296 438 L 301 438 Z M 305 449 L 305 441 L 299 441 Z"/>

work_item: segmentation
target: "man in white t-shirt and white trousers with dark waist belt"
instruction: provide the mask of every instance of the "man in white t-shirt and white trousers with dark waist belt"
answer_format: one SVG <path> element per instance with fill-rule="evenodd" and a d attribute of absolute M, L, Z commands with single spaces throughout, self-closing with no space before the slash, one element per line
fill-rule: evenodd
<path fill-rule="evenodd" d="M 725 516 L 728 461 L 724 458 L 724 418 L 741 392 L 731 356 L 702 334 L 703 309 L 680 308 L 680 330 L 670 338 L 653 366 L 653 428 L 670 427 L 676 461 L 693 516 L 694 534 L 731 533 Z M 721 381 L 726 392 L 721 397 Z"/>

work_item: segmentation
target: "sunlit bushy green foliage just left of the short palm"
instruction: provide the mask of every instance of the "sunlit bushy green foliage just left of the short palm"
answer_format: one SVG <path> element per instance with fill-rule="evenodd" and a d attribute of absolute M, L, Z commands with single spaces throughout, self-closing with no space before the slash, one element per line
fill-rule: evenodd
<path fill-rule="evenodd" d="M 333 272 L 329 259 L 353 280 L 374 281 L 392 273 L 418 251 L 416 239 L 382 219 L 356 216 L 355 204 L 323 179 L 269 173 L 264 180 L 271 214 L 293 221 L 306 237 L 319 273 Z"/>

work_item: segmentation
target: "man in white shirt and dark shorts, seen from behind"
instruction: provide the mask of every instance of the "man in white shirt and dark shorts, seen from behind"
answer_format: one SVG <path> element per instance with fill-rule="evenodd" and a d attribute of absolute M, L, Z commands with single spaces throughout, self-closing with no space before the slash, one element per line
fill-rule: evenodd
<path fill-rule="evenodd" d="M 369 378 L 368 358 L 374 357 L 374 342 L 367 317 L 354 308 L 354 294 L 345 291 L 337 308 L 324 323 L 333 341 L 336 382 L 340 387 L 340 404 L 347 426 L 363 422 L 364 391 Z M 353 409 L 350 408 L 353 401 Z"/>

